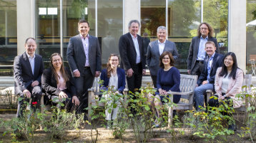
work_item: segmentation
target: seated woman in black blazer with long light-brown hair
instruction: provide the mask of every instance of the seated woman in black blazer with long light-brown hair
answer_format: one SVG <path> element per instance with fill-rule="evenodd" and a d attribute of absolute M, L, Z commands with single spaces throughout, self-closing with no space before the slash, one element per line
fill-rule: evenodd
<path fill-rule="evenodd" d="M 64 102 L 69 111 L 74 110 L 73 105 L 79 105 L 74 79 L 69 68 L 64 68 L 59 53 L 51 55 L 51 68 L 44 70 L 41 76 L 41 85 L 47 100 L 51 103 Z M 70 102 L 69 99 L 72 99 Z"/>

